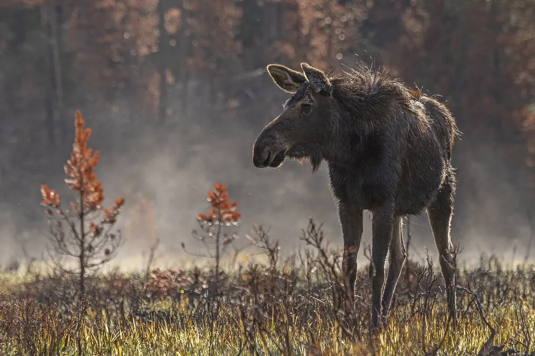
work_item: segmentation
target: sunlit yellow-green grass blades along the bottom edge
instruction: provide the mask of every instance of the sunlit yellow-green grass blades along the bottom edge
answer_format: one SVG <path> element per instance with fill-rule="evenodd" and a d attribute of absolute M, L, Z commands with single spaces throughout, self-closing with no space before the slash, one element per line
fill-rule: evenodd
<path fill-rule="evenodd" d="M 445 319 L 443 306 L 436 306 L 427 315 L 413 315 L 403 320 L 399 312 L 394 315 L 395 322 L 390 323 L 376 337 L 365 335 L 361 341 L 348 342 L 341 338 L 339 326 L 332 322 L 317 319 L 307 323 L 296 319 L 289 327 L 289 339 L 295 355 L 341 355 L 371 354 L 377 355 L 409 355 L 423 354 L 442 343 L 438 354 L 477 354 L 489 336 L 477 312 L 469 312 L 456 326 L 450 325 Z M 495 343 L 505 344 L 518 339 L 518 330 L 528 328 L 535 330 L 534 311 L 527 311 L 527 325 L 521 325 L 514 318 L 515 307 L 504 306 L 502 310 L 493 311 L 488 321 L 496 328 Z M 104 312 L 103 312 L 104 313 Z M 128 321 L 119 318 L 96 318 L 96 313 L 88 312 L 82 327 L 82 339 L 89 355 L 236 355 L 242 350 L 243 337 L 240 322 L 231 319 L 232 314 L 221 313 L 213 330 L 200 327 L 192 320 L 182 325 L 153 321 Z M 2 343 L 4 354 L 20 353 L 28 349 L 32 343 L 36 354 L 76 354 L 74 347 L 75 325 L 58 326 L 60 320 L 51 320 L 50 325 L 43 325 L 35 330 L 31 339 L 21 337 L 23 342 L 8 341 Z M 425 324 L 425 328 L 424 328 Z M 270 330 L 269 325 L 266 329 Z M 65 333 L 58 334 L 58 330 Z M 422 334 L 423 331 L 423 334 Z M 21 330 L 23 332 L 23 330 Z M 312 339 L 311 335 L 314 337 Z M 535 335 L 531 335 L 535 338 Z M 280 335 L 268 331 L 265 335 L 256 335 L 259 349 L 266 354 L 278 349 Z M 517 345 L 511 345 L 517 346 Z M 268 352 L 269 351 L 269 352 Z"/>

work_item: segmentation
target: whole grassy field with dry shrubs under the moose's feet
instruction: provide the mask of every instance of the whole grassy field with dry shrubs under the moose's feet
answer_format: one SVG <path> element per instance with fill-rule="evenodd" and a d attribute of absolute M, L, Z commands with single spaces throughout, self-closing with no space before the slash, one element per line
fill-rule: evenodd
<path fill-rule="evenodd" d="M 261 248 L 267 263 L 247 260 L 217 281 L 210 268 L 90 276 L 80 324 L 73 277 L 3 273 L 0 354 L 75 355 L 80 335 L 87 355 L 535 355 L 533 265 L 481 257 L 458 266 L 454 324 L 437 267 L 411 262 L 387 326 L 372 336 L 367 266 L 348 314 L 340 251 Z"/>

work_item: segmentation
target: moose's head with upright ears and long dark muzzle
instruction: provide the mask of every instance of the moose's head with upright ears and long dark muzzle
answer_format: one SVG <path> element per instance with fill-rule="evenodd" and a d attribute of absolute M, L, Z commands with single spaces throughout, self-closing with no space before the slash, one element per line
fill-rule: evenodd
<path fill-rule="evenodd" d="M 279 167 L 286 157 L 309 159 L 317 170 L 332 135 L 333 85 L 322 70 L 301 64 L 303 73 L 279 64 L 268 73 L 282 90 L 293 93 L 282 113 L 262 130 L 253 148 L 255 167 Z"/>

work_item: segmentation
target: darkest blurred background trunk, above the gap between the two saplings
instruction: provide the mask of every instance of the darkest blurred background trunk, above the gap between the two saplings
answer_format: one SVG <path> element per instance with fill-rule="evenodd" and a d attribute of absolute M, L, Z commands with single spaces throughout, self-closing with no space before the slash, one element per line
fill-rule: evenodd
<path fill-rule="evenodd" d="M 165 117 L 167 116 L 167 46 L 169 45 L 169 39 L 167 38 L 167 30 L 165 29 L 165 6 L 164 0 L 158 1 L 158 73 L 160 75 L 160 95 L 158 104 L 158 121 L 159 124 L 165 123 Z"/>

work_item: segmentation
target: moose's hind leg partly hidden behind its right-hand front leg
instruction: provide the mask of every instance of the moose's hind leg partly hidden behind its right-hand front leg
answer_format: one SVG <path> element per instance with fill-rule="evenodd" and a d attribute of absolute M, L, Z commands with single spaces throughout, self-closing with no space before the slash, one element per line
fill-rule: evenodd
<path fill-rule="evenodd" d="M 403 244 L 402 221 L 402 218 L 396 218 L 392 229 L 392 241 L 390 242 L 388 255 L 388 274 L 386 276 L 385 291 L 383 292 L 383 323 L 386 322 L 392 296 L 398 284 L 403 263 L 407 258 L 407 252 Z"/>

